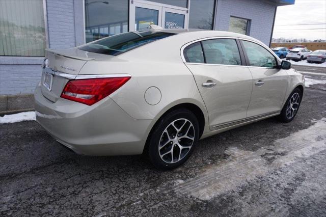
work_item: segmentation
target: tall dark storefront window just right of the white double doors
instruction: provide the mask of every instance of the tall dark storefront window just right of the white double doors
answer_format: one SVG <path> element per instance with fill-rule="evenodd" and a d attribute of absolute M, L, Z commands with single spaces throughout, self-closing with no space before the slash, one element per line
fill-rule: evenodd
<path fill-rule="evenodd" d="M 191 0 L 189 9 L 189 29 L 213 29 L 215 0 Z"/>

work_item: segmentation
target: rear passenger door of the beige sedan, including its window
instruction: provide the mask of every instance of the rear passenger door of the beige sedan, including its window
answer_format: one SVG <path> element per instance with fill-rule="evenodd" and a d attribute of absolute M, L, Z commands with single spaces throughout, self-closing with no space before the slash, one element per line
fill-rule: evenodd
<path fill-rule="evenodd" d="M 237 39 L 214 38 L 188 45 L 182 52 L 206 105 L 211 130 L 247 117 L 253 80 L 242 65 L 238 43 Z"/>

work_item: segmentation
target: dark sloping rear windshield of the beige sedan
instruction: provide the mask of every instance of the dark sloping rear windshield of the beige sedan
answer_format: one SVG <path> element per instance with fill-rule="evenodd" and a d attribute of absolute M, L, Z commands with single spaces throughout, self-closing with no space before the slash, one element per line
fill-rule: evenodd
<path fill-rule="evenodd" d="M 105 55 L 117 56 L 136 47 L 140 47 L 147 43 L 175 35 L 174 33 L 165 32 L 128 32 L 115 36 L 103 38 L 101 40 L 89 43 L 80 50 L 89 52 L 102 53 Z"/>

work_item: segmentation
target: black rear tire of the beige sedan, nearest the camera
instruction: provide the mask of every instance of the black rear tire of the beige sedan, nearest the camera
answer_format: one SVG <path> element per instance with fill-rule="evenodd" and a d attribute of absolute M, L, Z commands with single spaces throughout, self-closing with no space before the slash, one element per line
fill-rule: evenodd
<path fill-rule="evenodd" d="M 188 122 L 182 122 L 182 121 L 187 120 Z M 177 135 L 176 128 L 173 128 L 171 123 L 174 123 L 177 125 L 176 127 L 180 127 L 180 137 L 185 135 L 184 132 L 186 131 L 187 126 L 189 131 L 187 135 L 190 137 L 193 137 L 193 142 L 191 144 L 190 139 L 187 138 L 181 138 L 179 140 Z M 193 128 L 191 127 L 190 123 L 192 124 Z M 184 124 L 184 125 L 183 125 Z M 183 125 L 183 127 L 182 127 Z M 165 115 L 163 118 L 159 120 L 159 122 L 154 126 L 155 128 L 153 129 L 150 138 L 148 140 L 148 155 L 149 159 L 152 162 L 152 164 L 160 170 L 170 170 L 179 167 L 182 165 L 192 154 L 194 151 L 195 145 L 199 139 L 199 123 L 196 118 L 196 116 L 189 110 L 186 110 L 185 108 L 179 108 L 177 110 L 174 110 L 167 115 Z M 165 129 L 168 129 L 170 132 L 170 136 L 173 137 L 175 133 L 175 139 L 176 141 L 171 141 L 170 136 L 167 137 L 167 133 L 165 133 Z M 175 130 L 175 131 L 174 131 Z M 182 143 L 180 142 L 182 140 Z M 172 144 L 170 144 L 170 142 Z M 167 143 L 168 142 L 168 143 Z M 160 144 L 161 143 L 161 144 Z M 178 144 L 176 144 L 178 143 Z M 164 145 L 167 144 L 167 145 Z M 179 145 L 182 144 L 182 147 L 184 144 L 185 146 L 189 146 L 191 148 L 185 148 L 185 149 L 180 149 Z M 191 145 L 189 145 L 191 144 Z M 162 147 L 161 149 L 159 147 Z M 173 154 L 169 153 L 161 157 L 160 155 L 163 155 L 167 152 L 170 152 L 172 150 Z M 182 151 L 181 151 L 182 150 Z M 181 151 L 181 153 L 180 153 Z M 176 156 L 178 155 L 178 156 Z M 182 158 L 181 158 L 182 155 Z M 165 158 L 166 157 L 166 158 Z M 162 159 L 163 158 L 163 159 Z M 170 162 L 169 159 L 171 158 Z M 176 159 L 179 158 L 179 159 Z M 178 160 L 178 161 L 176 161 Z M 176 161 L 176 162 L 173 162 Z"/>

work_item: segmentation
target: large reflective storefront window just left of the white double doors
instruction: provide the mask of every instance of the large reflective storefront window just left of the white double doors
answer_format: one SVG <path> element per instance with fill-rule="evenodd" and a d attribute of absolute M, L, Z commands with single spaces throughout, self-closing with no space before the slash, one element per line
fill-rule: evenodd
<path fill-rule="evenodd" d="M 128 32 L 128 0 L 85 0 L 86 43 Z"/>

